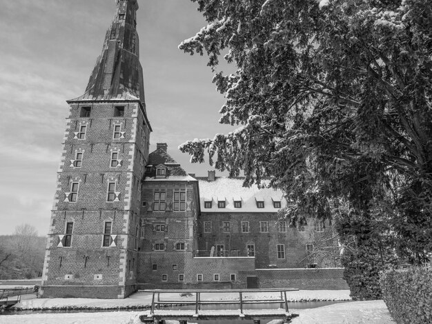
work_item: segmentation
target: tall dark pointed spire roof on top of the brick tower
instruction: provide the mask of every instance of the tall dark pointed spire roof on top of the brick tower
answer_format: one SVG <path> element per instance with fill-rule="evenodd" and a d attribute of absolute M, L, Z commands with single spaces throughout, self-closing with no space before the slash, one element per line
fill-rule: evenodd
<path fill-rule="evenodd" d="M 137 10 L 137 0 L 117 0 L 117 11 L 106 32 L 102 54 L 90 75 L 86 93 L 70 101 L 139 100 L 145 109 Z"/>

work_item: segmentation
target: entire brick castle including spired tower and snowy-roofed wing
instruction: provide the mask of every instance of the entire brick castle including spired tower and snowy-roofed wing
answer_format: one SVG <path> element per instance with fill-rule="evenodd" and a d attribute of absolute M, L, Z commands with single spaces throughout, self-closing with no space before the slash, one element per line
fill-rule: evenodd
<path fill-rule="evenodd" d="M 277 215 L 286 206 L 281 191 L 244 188 L 242 179 L 214 171 L 187 174 L 165 143 L 148 152 L 137 10 L 137 0 L 117 0 L 86 91 L 67 101 L 41 296 L 346 287 L 330 224 L 308 216 L 290 226 Z M 319 241 L 326 242 L 324 257 L 313 254 Z"/>

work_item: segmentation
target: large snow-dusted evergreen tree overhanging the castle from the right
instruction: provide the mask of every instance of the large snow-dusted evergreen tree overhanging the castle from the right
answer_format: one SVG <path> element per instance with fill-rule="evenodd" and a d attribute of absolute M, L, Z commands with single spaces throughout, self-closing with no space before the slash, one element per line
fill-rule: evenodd
<path fill-rule="evenodd" d="M 245 185 L 270 177 L 295 201 L 293 221 L 304 209 L 330 217 L 329 202 L 343 199 L 354 212 L 340 219 L 341 237 L 350 232 L 377 260 L 394 246 L 424 263 L 432 250 L 429 1 L 192 1 L 208 26 L 179 48 L 208 54 L 226 96 L 219 122 L 239 128 L 181 151 L 193 162 L 208 152 L 231 176 L 243 170 Z M 235 73 L 217 70 L 222 54 Z M 372 249 L 377 242 L 389 253 Z"/>

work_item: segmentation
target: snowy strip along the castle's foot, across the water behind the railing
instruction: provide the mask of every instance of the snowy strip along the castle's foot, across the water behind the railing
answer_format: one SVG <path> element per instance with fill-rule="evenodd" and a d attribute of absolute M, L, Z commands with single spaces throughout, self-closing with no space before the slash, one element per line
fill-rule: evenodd
<path fill-rule="evenodd" d="M 75 308 L 75 309 L 121 309 L 121 308 L 136 308 L 149 307 L 152 301 L 150 292 L 137 292 L 128 298 L 124 299 L 95 299 L 95 298 L 26 298 L 15 305 L 19 310 L 49 310 L 59 308 Z M 179 293 L 164 293 L 161 294 L 161 301 L 164 300 L 194 300 L 195 296 L 180 297 Z M 287 292 L 288 301 L 349 301 L 349 290 L 298 290 Z M 202 293 L 202 300 L 235 300 L 239 298 L 237 293 Z M 279 293 L 244 293 L 245 299 L 275 299 L 280 298 Z"/>

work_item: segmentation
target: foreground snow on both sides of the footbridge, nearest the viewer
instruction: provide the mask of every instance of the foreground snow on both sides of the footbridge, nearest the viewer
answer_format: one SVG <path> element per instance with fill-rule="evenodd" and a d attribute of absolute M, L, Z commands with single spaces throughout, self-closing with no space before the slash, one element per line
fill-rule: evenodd
<path fill-rule="evenodd" d="M 0 324 L 140 324 L 139 315 L 146 312 L 88 312 L 69 314 L 0 315 Z M 394 324 L 383 301 L 354 301 L 309 310 L 292 324 Z M 171 321 L 170 321 L 171 322 Z M 175 323 L 175 321 L 172 321 Z"/>

